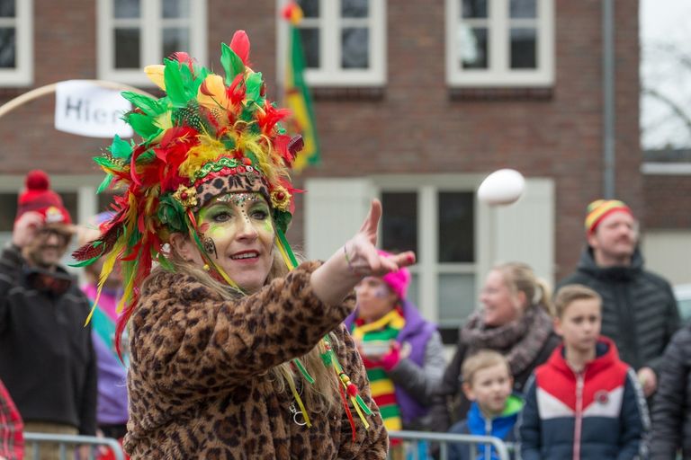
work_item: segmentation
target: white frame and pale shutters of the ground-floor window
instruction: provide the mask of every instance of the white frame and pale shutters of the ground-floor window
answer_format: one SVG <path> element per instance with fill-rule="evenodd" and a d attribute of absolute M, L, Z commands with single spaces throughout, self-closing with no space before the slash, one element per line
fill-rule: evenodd
<path fill-rule="evenodd" d="M 437 261 L 438 193 L 477 190 L 485 176 L 461 173 L 308 178 L 305 188 L 310 193 L 305 196 L 303 216 L 307 256 L 326 260 L 335 248 L 352 238 L 367 214 L 372 197 L 381 197 L 382 192 L 416 191 L 417 263 L 410 270 L 417 274 L 417 307 L 427 319 L 440 320 L 440 275 L 474 275 L 475 292 L 471 300 L 475 305 L 485 276 L 501 261 L 525 261 L 540 278 L 552 283 L 556 269 L 552 178 L 527 178 L 523 197 L 511 206 L 490 207 L 476 201 L 475 260 L 472 263 Z M 441 325 L 448 327 L 449 323 Z"/>

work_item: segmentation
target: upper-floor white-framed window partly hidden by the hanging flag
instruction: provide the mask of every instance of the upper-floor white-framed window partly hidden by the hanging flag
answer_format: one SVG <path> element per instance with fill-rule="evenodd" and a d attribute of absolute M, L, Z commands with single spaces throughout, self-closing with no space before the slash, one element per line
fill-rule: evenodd
<path fill-rule="evenodd" d="M 284 0 L 279 0 L 283 9 Z M 381 86 L 386 73 L 385 0 L 299 0 L 305 78 L 313 86 Z M 287 51 L 280 21 L 279 49 Z"/>

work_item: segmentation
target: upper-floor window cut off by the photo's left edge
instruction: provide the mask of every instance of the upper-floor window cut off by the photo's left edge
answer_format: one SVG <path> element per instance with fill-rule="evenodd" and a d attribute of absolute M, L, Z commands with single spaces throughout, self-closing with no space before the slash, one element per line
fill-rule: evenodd
<path fill-rule="evenodd" d="M 33 80 L 32 0 L 0 0 L 0 84 Z"/>

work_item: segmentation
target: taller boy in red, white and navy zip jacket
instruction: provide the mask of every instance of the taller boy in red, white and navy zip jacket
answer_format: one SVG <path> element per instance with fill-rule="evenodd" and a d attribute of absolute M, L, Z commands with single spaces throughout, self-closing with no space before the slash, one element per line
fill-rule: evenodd
<path fill-rule="evenodd" d="M 526 385 L 518 423 L 523 460 L 646 458 L 648 409 L 633 369 L 600 336 L 602 299 L 569 285 L 554 303 L 564 342 Z"/>

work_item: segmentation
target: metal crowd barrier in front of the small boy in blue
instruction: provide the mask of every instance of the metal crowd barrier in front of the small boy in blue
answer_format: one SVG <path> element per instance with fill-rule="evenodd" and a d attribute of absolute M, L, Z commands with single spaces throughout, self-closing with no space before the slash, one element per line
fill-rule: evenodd
<path fill-rule="evenodd" d="M 499 460 L 510 460 L 508 455 L 509 446 L 507 443 L 499 438 L 494 438 L 492 436 L 475 436 L 475 435 L 461 435 L 453 433 L 433 433 L 427 431 L 389 431 L 390 439 L 401 439 L 403 441 L 411 442 L 417 444 L 419 441 L 426 441 L 427 445 L 431 443 L 436 443 L 439 445 L 439 459 L 446 460 L 448 458 L 449 444 L 468 444 L 471 449 L 471 458 L 475 458 L 477 454 L 477 448 L 481 445 L 490 445 L 494 447 L 497 451 L 497 456 Z M 415 442 L 417 441 L 417 442 Z M 512 448 L 513 446 L 511 446 Z M 408 453 L 407 458 L 412 460 L 427 460 L 427 458 L 432 458 L 431 456 L 419 456 L 419 452 L 416 448 L 411 449 Z"/>

